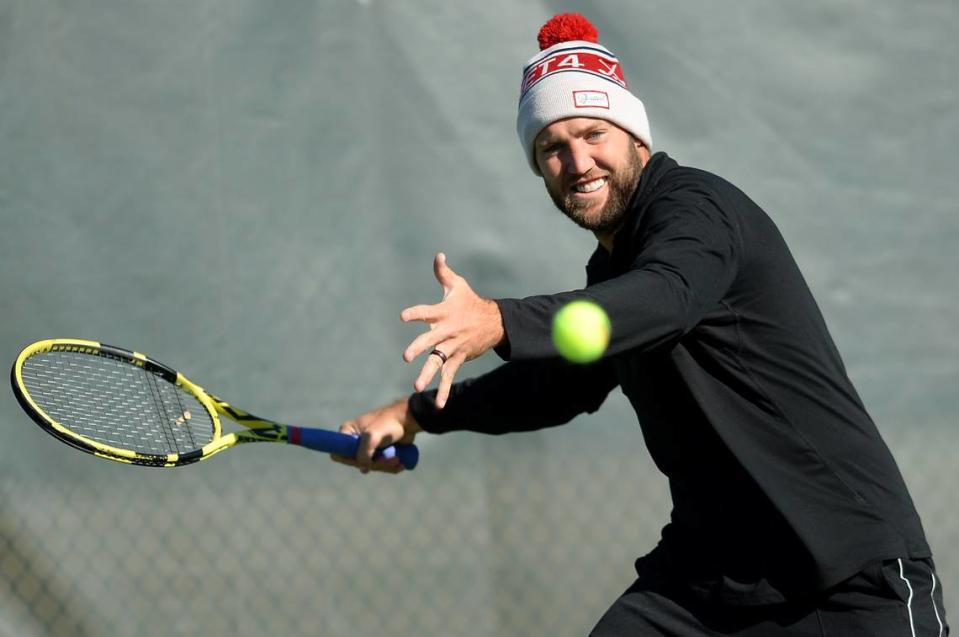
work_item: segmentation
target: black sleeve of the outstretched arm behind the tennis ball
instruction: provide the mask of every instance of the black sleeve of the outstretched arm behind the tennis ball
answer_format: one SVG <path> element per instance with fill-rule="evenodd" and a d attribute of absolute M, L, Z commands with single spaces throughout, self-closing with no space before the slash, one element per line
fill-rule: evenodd
<path fill-rule="evenodd" d="M 604 360 L 676 342 L 692 330 L 736 276 L 739 227 L 706 198 L 685 205 L 664 199 L 646 215 L 641 236 L 634 239 L 638 249 L 622 274 L 584 290 L 499 299 L 507 341 L 497 353 L 511 361 L 554 356 L 550 322 L 576 299 L 595 301 L 609 315 L 612 333 Z"/>

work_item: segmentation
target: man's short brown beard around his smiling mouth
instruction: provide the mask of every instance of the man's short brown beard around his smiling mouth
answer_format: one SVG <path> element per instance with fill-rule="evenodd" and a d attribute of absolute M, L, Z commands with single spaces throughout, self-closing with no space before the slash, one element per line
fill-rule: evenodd
<path fill-rule="evenodd" d="M 607 175 L 606 203 L 592 217 L 589 212 L 594 204 L 577 201 L 568 186 L 556 188 L 547 183 L 546 191 L 559 211 L 580 228 L 596 234 L 612 233 L 626 217 L 626 209 L 639 181 L 639 174 L 643 171 L 643 162 L 636 147 L 630 144 L 627 153 L 629 156 L 623 169 Z"/>

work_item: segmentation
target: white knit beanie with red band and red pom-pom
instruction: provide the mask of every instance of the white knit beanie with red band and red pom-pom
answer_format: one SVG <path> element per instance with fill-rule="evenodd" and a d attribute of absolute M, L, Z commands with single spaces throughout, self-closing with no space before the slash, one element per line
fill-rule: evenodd
<path fill-rule="evenodd" d="M 540 29 L 541 51 L 523 67 L 516 132 L 537 175 L 533 140 L 561 119 L 605 119 L 652 149 L 646 108 L 629 92 L 619 60 L 598 37 L 596 28 L 577 13 L 554 16 Z"/>

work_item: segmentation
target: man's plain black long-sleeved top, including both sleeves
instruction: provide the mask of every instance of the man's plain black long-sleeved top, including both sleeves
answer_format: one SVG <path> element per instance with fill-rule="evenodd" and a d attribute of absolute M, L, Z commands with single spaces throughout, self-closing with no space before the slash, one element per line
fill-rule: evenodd
<path fill-rule="evenodd" d="M 612 323 L 593 365 L 557 359 L 550 340 L 552 316 L 577 298 Z M 456 383 L 441 411 L 433 392 L 414 394 L 414 417 L 435 433 L 532 430 L 595 411 L 618 385 L 669 479 L 656 553 L 694 589 L 780 601 L 930 556 L 785 242 L 723 179 L 657 153 L 585 289 L 497 303 L 508 362 Z"/>

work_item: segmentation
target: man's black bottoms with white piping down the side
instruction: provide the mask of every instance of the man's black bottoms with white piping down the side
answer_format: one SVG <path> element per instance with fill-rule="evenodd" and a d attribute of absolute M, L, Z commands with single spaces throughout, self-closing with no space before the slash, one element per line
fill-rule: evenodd
<path fill-rule="evenodd" d="M 931 560 L 887 560 L 805 603 L 731 606 L 644 574 L 591 637 L 946 637 L 942 589 Z"/>

